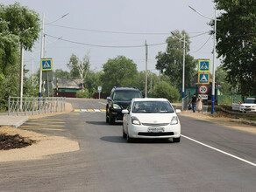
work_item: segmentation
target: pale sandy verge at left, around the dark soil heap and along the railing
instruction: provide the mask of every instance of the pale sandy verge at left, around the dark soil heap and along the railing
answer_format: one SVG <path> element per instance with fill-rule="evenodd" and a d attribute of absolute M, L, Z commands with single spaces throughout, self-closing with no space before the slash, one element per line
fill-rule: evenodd
<path fill-rule="evenodd" d="M 73 111 L 71 104 L 66 103 L 66 111 Z M 30 116 L 30 119 L 39 119 L 46 116 L 54 116 L 60 113 L 47 113 Z M 0 162 L 6 161 L 28 161 L 49 158 L 51 154 L 67 153 L 79 150 L 77 141 L 71 141 L 65 137 L 37 134 L 32 131 L 21 130 L 15 127 L 0 127 L 0 134 L 15 135 L 29 138 L 35 141 L 32 146 L 16 148 L 11 150 L 0 150 Z"/>

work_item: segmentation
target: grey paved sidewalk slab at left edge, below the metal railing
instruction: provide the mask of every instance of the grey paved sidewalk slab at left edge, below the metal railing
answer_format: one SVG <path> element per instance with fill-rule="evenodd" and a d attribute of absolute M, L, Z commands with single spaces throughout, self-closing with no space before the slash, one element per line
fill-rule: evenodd
<path fill-rule="evenodd" d="M 19 127 L 28 119 L 28 116 L 1 115 L 0 126 Z"/>

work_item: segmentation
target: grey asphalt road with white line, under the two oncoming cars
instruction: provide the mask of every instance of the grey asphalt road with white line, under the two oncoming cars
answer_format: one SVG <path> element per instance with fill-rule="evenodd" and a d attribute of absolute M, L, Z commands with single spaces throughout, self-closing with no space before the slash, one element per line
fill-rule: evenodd
<path fill-rule="evenodd" d="M 68 102 L 105 108 L 104 100 Z M 65 131 L 34 131 L 79 141 L 81 150 L 1 163 L 0 191 L 256 191 L 255 134 L 180 116 L 180 143 L 127 143 L 121 122 L 106 124 L 103 112 L 51 118 L 64 120 Z"/>

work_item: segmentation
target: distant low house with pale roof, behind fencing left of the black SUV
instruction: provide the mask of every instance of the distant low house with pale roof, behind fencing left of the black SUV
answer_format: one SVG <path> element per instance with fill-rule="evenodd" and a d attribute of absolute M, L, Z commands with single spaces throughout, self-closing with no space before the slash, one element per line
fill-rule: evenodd
<path fill-rule="evenodd" d="M 75 98 L 76 93 L 82 90 L 81 79 L 54 79 L 54 95 L 57 97 Z M 58 83 L 57 83 L 58 82 Z"/>

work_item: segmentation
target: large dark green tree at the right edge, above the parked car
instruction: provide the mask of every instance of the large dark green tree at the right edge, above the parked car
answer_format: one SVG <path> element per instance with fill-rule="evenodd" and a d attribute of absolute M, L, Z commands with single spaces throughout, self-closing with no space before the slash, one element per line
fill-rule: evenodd
<path fill-rule="evenodd" d="M 223 58 L 227 80 L 238 85 L 243 96 L 256 95 L 256 2 L 214 2 L 222 10 L 217 17 L 217 54 Z"/>

